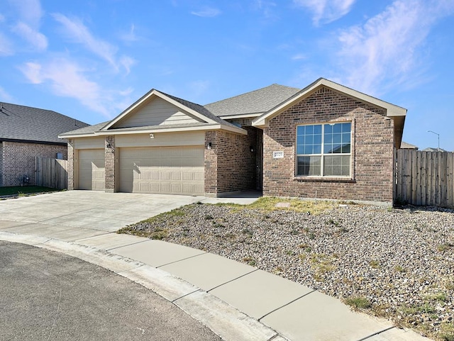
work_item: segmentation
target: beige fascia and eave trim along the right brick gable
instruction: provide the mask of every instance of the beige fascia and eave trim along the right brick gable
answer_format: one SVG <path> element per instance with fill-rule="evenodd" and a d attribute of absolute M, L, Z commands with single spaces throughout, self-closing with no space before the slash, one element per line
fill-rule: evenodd
<path fill-rule="evenodd" d="M 345 96 L 349 96 L 354 99 L 358 99 L 360 101 L 371 104 L 372 106 L 383 108 L 386 116 L 392 118 L 392 120 L 394 121 L 394 143 L 397 148 L 400 147 L 400 144 L 402 142 L 402 134 L 404 133 L 404 122 L 406 116 L 405 108 L 395 106 L 394 104 L 390 104 L 388 102 L 382 101 L 381 99 L 376 99 L 375 97 L 366 94 L 362 94 L 362 92 L 360 91 L 350 89 L 347 86 L 331 82 L 330 80 L 324 78 L 317 79 L 314 83 L 309 84 L 309 86 L 306 86 L 304 89 L 298 91 L 296 94 L 294 94 L 294 96 L 286 99 L 285 101 L 282 101 L 282 103 L 275 106 L 275 108 L 272 108 L 270 111 L 267 111 L 258 118 L 255 118 L 253 120 L 253 126 L 265 128 L 272 118 L 275 118 L 280 113 L 283 113 L 294 104 L 297 104 L 299 101 L 311 96 L 311 94 L 314 94 L 315 91 L 318 91 L 323 86 L 326 86 L 333 91 L 338 91 Z"/>

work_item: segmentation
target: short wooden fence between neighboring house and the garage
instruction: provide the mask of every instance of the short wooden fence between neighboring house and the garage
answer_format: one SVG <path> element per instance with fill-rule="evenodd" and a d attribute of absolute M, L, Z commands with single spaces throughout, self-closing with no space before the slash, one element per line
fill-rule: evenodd
<path fill-rule="evenodd" d="M 52 189 L 67 189 L 68 161 L 35 157 L 36 185 Z"/>

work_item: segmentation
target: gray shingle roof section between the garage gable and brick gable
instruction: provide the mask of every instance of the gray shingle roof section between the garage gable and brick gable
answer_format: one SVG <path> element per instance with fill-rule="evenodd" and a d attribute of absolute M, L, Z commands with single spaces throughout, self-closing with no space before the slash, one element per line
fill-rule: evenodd
<path fill-rule="evenodd" d="M 207 108 L 214 115 L 231 116 L 248 113 L 265 113 L 289 99 L 301 89 L 272 84 L 265 88 L 247 92 L 238 96 L 206 104 Z"/>

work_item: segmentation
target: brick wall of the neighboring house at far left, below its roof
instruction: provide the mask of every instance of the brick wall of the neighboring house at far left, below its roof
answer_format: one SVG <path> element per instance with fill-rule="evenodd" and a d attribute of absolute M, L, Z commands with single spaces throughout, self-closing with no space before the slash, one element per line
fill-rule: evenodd
<path fill-rule="evenodd" d="M 38 143 L 2 142 L 3 170 L 1 172 L 3 186 L 20 186 L 23 175 L 30 178 L 30 184 L 35 182 L 35 157 L 55 159 L 57 152 L 67 158 L 66 145 L 43 145 Z"/>

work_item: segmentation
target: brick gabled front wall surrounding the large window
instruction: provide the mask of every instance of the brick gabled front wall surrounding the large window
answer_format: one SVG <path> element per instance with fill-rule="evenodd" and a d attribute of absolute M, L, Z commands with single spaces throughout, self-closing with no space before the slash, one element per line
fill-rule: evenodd
<path fill-rule="evenodd" d="M 336 121 L 352 123 L 352 178 L 296 179 L 297 125 Z M 392 202 L 393 129 L 382 109 L 321 88 L 265 128 L 263 194 Z M 272 158 L 277 150 L 284 158 Z"/>

